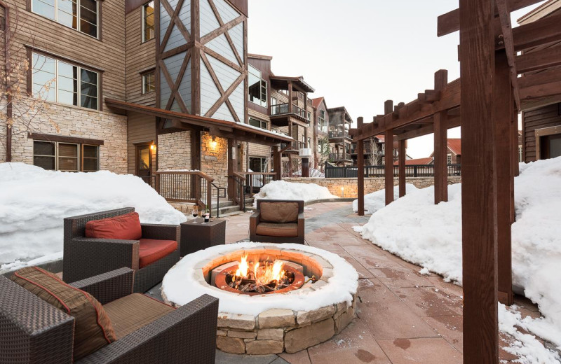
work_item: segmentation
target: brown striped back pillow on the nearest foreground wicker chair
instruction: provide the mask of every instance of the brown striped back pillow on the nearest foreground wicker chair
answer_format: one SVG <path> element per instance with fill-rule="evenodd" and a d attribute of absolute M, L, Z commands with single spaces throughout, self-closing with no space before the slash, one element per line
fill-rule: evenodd
<path fill-rule="evenodd" d="M 38 267 L 22 268 L 14 272 L 11 280 L 74 317 L 74 360 L 116 340 L 109 316 L 89 293 Z"/>

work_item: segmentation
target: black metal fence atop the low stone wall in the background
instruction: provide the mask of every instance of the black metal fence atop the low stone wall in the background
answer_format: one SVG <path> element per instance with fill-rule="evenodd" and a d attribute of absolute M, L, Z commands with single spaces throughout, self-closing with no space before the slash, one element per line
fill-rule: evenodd
<path fill-rule="evenodd" d="M 386 166 L 365 166 L 364 176 L 368 177 L 384 177 Z M 460 165 L 448 165 L 448 176 L 461 176 Z M 393 174 L 399 175 L 398 166 L 393 166 Z M 329 163 L 325 163 L 325 178 L 326 179 L 345 179 L 356 178 L 358 176 L 358 167 L 333 167 Z M 406 165 L 405 176 L 407 177 L 433 177 L 434 165 Z"/>

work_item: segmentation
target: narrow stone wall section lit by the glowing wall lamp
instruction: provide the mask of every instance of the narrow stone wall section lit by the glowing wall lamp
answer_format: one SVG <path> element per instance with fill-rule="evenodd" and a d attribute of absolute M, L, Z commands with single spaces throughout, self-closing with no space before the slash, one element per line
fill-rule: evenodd
<path fill-rule="evenodd" d="M 201 134 L 201 171 L 215 179 L 219 187 L 228 186 L 228 139 L 215 138 L 216 146 L 212 145 L 212 136 L 207 132 Z"/>

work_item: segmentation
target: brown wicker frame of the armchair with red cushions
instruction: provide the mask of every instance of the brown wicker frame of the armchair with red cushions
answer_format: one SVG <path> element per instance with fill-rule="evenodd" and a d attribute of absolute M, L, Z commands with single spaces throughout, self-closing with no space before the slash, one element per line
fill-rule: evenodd
<path fill-rule="evenodd" d="M 146 292 L 156 286 L 168 270 L 180 260 L 180 226 L 142 224 L 142 237 L 175 240 L 177 249 L 146 267 L 139 268 L 138 240 L 96 239 L 85 237 L 88 221 L 112 218 L 135 211 L 133 207 L 65 218 L 62 279 L 79 281 L 121 267 L 135 271 L 135 292 Z"/>

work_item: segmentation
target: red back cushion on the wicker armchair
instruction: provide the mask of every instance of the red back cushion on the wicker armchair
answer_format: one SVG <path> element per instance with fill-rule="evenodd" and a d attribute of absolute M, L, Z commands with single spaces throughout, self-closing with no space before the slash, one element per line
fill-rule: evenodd
<path fill-rule="evenodd" d="M 142 237 L 138 213 L 130 212 L 114 218 L 88 221 L 86 223 L 86 237 L 138 240 Z"/>

